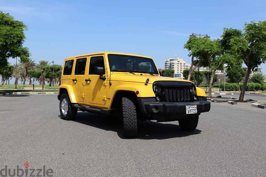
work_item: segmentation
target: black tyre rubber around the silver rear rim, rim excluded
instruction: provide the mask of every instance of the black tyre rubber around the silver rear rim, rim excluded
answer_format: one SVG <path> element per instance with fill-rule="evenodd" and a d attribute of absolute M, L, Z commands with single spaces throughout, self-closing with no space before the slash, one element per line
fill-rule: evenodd
<path fill-rule="evenodd" d="M 61 103 L 64 99 L 67 100 L 67 107 L 68 107 L 66 114 L 63 114 L 62 109 L 61 109 Z M 71 106 L 71 101 L 70 101 L 67 93 L 63 93 L 61 95 L 59 110 L 60 110 L 60 114 L 61 114 L 61 119 L 72 120 L 72 119 L 75 119 L 77 117 L 77 108 L 74 108 Z"/>

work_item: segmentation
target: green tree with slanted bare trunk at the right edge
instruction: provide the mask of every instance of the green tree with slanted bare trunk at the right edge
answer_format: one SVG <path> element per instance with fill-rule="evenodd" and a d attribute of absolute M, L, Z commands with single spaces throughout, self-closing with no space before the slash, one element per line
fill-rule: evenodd
<path fill-rule="evenodd" d="M 239 101 L 243 102 L 251 71 L 257 71 L 259 65 L 266 62 L 266 21 L 245 23 L 244 32 L 224 28 L 222 37 L 227 49 L 242 59 L 247 66 L 239 96 Z"/>

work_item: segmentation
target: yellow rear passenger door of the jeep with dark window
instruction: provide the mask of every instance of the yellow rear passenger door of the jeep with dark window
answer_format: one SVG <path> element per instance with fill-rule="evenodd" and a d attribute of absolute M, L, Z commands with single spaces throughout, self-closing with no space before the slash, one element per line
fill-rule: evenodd
<path fill-rule="evenodd" d="M 88 57 L 80 57 L 76 59 L 75 70 L 72 78 L 72 86 L 77 96 L 77 101 L 84 101 L 85 98 L 85 71 L 87 70 Z"/>

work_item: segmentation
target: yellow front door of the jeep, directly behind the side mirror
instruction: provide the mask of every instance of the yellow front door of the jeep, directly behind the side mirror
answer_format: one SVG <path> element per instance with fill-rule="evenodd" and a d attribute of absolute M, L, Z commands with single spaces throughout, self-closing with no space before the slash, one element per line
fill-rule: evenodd
<path fill-rule="evenodd" d="M 100 66 L 104 68 L 104 71 L 106 71 L 106 67 L 104 63 L 104 55 L 93 55 L 89 57 L 89 60 L 90 60 L 89 73 L 85 77 L 86 99 L 89 103 L 103 105 L 106 103 L 107 84 L 106 84 L 106 80 L 103 80 L 103 77 L 106 75 L 106 73 L 104 73 L 101 77 L 102 79 L 100 79 L 100 75 L 97 75 L 94 72 L 94 67 Z"/>

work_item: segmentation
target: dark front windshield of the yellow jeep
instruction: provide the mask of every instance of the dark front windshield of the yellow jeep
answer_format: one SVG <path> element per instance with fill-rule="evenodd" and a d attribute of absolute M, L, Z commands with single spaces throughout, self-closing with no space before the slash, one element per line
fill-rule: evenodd
<path fill-rule="evenodd" d="M 108 60 L 111 71 L 126 70 L 137 73 L 159 74 L 153 60 L 150 58 L 108 54 Z"/>

